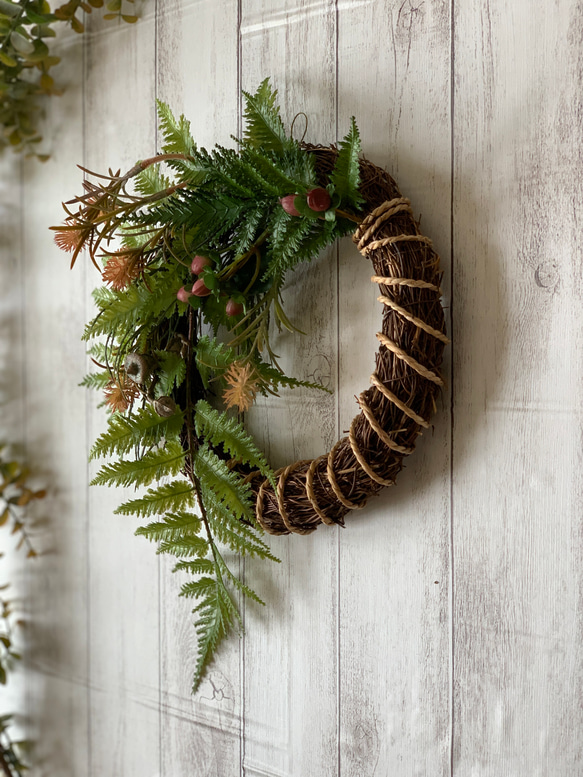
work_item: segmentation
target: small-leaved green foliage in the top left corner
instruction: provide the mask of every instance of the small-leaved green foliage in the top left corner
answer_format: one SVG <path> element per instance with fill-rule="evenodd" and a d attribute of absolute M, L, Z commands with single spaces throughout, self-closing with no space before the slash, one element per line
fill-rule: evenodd
<path fill-rule="evenodd" d="M 51 54 L 49 40 L 63 23 L 84 32 L 81 14 L 103 6 L 104 0 L 68 0 L 52 12 L 47 0 L 0 0 L 0 151 L 12 147 L 47 159 L 37 151 L 42 140 L 39 98 L 61 94 L 49 73 L 60 62 Z M 137 21 L 137 16 L 122 13 L 122 0 L 107 0 L 105 10 L 104 19 Z"/>

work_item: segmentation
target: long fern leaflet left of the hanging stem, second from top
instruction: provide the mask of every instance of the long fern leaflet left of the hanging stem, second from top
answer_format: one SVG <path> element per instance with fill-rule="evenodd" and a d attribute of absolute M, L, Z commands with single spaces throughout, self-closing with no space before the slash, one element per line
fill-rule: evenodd
<path fill-rule="evenodd" d="M 106 464 L 91 481 L 92 486 L 147 486 L 153 480 L 177 475 L 184 466 L 186 453 L 179 442 L 151 450 L 141 458 L 122 459 Z"/>

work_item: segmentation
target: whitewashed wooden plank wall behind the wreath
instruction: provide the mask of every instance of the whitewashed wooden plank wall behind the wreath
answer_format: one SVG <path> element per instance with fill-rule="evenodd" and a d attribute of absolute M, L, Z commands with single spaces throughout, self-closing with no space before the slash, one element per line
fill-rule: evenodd
<path fill-rule="evenodd" d="M 146 0 L 137 25 L 93 18 L 61 40 L 52 158 L 0 162 L 1 436 L 50 488 L 43 555 L 13 562 L 28 647 L 8 701 L 35 777 L 583 773 L 582 24 L 577 0 Z M 246 636 L 191 697 L 179 581 L 112 515 L 120 495 L 87 488 L 103 415 L 77 388 L 79 337 L 98 278 L 70 272 L 47 227 L 80 191 L 75 163 L 156 150 L 156 97 L 200 144 L 229 143 L 240 89 L 267 75 L 308 140 L 356 115 L 422 214 L 449 389 L 396 488 L 345 530 L 272 539 L 280 566 L 246 563 L 268 607 L 245 607 Z M 354 415 L 380 318 L 369 276 L 347 241 L 292 280 L 312 335 L 278 350 L 335 394 L 262 406 L 275 464 L 322 453 Z"/>

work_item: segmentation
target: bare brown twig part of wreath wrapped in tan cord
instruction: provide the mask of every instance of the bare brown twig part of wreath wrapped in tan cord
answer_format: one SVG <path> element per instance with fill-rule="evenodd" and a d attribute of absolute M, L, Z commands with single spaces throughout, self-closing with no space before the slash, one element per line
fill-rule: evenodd
<path fill-rule="evenodd" d="M 310 151 L 325 185 L 337 152 Z M 269 534 L 309 534 L 320 523 L 343 526 L 348 512 L 393 485 L 403 457 L 430 425 L 443 385 L 438 370 L 447 337 L 439 257 L 391 176 L 366 160 L 360 171 L 368 215 L 353 241 L 372 263 L 383 304 L 372 386 L 359 397 L 361 412 L 349 435 L 329 453 L 278 470 L 275 491 L 256 473 L 249 476 L 257 519 Z"/>

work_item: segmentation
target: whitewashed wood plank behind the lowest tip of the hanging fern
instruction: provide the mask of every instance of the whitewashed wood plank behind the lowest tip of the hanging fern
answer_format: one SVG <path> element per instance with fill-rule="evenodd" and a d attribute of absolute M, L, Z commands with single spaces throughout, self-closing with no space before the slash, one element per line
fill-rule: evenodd
<path fill-rule="evenodd" d="M 157 29 L 158 97 L 176 115 L 185 114 L 199 146 L 231 145 L 239 106 L 237 4 L 165 2 Z M 178 598 L 184 579 L 172 575 L 173 566 L 171 560 L 161 559 L 161 773 L 239 774 L 240 641 L 233 635 L 220 647 L 193 697 L 195 618 L 192 600 Z"/>

